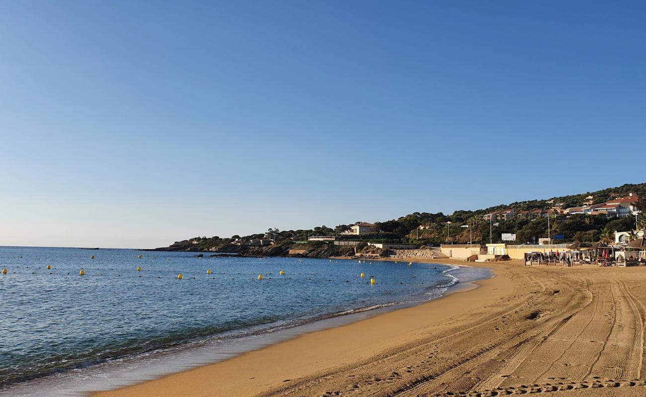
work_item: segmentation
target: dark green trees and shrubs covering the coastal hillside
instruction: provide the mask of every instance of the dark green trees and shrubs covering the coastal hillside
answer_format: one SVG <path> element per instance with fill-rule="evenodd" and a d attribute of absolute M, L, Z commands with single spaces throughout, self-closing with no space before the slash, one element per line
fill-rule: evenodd
<path fill-rule="evenodd" d="M 630 192 L 638 194 L 640 200 L 637 204 L 642 215 L 637 219 L 640 229 L 646 229 L 646 183 L 627 184 L 616 188 L 607 188 L 597 192 L 586 192 L 572 196 L 552 198 L 554 203 L 563 203 L 563 208 L 581 207 L 587 196 L 594 196 L 594 203 L 602 203 L 625 196 Z M 234 235 L 231 238 L 219 236 L 195 237 L 183 241 L 176 241 L 165 250 L 190 250 L 190 251 L 215 251 L 215 252 L 249 252 L 258 246 L 271 243 L 272 252 L 284 254 L 289 249 L 323 250 L 329 249 L 331 243 L 325 241 L 307 241 L 309 236 L 335 236 L 337 239 L 361 239 L 373 243 L 410 243 L 417 245 L 441 243 L 494 243 L 501 242 L 501 234 L 516 234 L 516 243 L 530 243 L 539 238 L 548 236 L 548 222 L 552 235 L 563 235 L 559 242 L 572 241 L 612 241 L 615 230 L 632 230 L 635 228 L 635 218 L 609 218 L 605 215 L 550 215 L 548 218 L 530 219 L 529 217 L 514 216 L 506 221 L 494 221 L 490 225 L 483 219 L 485 214 L 497 210 L 547 210 L 554 204 L 547 199 L 530 201 L 517 201 L 508 205 L 497 205 L 481 210 L 457 210 L 450 215 L 442 212 L 413 212 L 398 219 L 376 222 L 379 232 L 365 236 L 342 236 L 342 232 L 349 230 L 353 223 L 337 225 L 334 229 L 326 225 L 317 226 L 309 230 L 278 230 L 269 229 L 264 233 L 249 236 Z M 420 229 L 419 227 L 422 227 Z M 491 230 L 491 232 L 490 232 Z M 270 241 L 271 240 L 271 241 Z M 362 247 L 364 249 L 364 247 Z M 255 252 L 255 251 L 254 251 Z"/>

